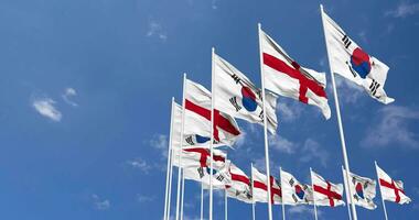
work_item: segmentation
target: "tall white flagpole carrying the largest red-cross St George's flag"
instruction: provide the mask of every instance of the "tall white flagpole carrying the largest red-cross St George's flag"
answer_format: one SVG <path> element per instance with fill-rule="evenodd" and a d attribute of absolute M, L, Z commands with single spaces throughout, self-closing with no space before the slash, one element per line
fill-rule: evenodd
<path fill-rule="evenodd" d="M 267 125 L 267 119 L 266 119 L 266 105 L 265 105 L 265 74 L 264 74 L 264 58 L 262 58 L 262 48 L 261 48 L 261 41 L 260 41 L 260 33 L 261 33 L 261 24 L 258 23 L 258 35 L 259 35 L 259 62 L 260 62 L 260 77 L 261 77 L 261 89 L 262 89 L 262 105 L 264 105 L 264 135 L 265 135 L 265 163 L 266 163 L 266 176 L 268 178 L 267 180 L 267 187 L 268 187 L 268 217 L 269 220 L 272 220 L 272 204 L 270 202 L 270 170 L 269 170 L 269 143 L 268 143 L 268 125 Z"/>

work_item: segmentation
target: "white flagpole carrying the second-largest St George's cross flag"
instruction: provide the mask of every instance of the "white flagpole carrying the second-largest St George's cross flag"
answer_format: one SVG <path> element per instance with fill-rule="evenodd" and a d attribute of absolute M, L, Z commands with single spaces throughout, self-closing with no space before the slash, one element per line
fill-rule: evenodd
<path fill-rule="evenodd" d="M 182 128 L 181 128 L 181 145 L 179 150 L 179 167 L 178 167 L 178 195 L 176 195 L 176 220 L 179 220 L 180 202 L 181 202 L 181 179 L 182 179 L 182 148 L 183 148 L 183 130 L 185 125 L 185 85 L 186 85 L 186 74 L 183 74 L 183 95 L 182 95 Z"/>

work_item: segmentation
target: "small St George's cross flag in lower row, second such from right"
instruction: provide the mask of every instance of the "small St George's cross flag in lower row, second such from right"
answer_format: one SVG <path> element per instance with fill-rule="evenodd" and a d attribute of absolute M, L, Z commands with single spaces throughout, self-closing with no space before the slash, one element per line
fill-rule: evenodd
<path fill-rule="evenodd" d="M 314 172 L 311 172 L 311 182 L 313 185 L 313 199 L 316 206 L 336 207 L 345 205 L 342 200 L 342 184 L 332 184 Z"/>

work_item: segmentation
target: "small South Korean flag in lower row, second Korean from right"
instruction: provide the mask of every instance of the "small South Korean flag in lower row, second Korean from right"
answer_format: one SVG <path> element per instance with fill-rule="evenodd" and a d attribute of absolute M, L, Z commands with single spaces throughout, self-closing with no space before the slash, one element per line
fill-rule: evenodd
<path fill-rule="evenodd" d="M 308 184 L 301 184 L 292 174 L 280 170 L 282 201 L 284 205 L 313 204 L 313 189 Z"/>

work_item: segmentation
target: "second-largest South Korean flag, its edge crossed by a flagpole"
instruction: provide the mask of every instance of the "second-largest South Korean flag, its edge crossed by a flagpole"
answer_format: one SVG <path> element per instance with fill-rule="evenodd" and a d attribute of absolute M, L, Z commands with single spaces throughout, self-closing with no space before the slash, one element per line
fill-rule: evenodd
<path fill-rule="evenodd" d="M 232 64 L 214 54 L 214 108 L 251 123 L 264 124 L 262 92 Z M 267 125 L 277 130 L 277 96 L 266 92 Z"/>

